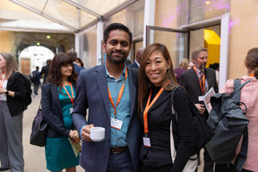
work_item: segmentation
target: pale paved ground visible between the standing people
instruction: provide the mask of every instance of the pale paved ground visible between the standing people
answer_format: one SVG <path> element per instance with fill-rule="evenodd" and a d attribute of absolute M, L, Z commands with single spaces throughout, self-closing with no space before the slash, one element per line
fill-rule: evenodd
<path fill-rule="evenodd" d="M 25 161 L 24 172 L 43 172 L 48 171 L 45 159 L 45 149 L 38 146 L 33 146 L 30 144 L 30 132 L 31 125 L 34 116 L 36 116 L 39 102 L 40 102 L 40 89 L 39 89 L 39 98 L 32 99 L 32 103 L 23 114 L 23 156 Z M 201 153 L 202 155 L 202 153 Z M 198 167 L 198 171 L 202 171 L 203 160 L 201 166 Z M 64 170 L 63 170 L 64 171 Z M 11 172 L 7 170 L 6 172 Z M 77 172 L 84 172 L 84 170 L 78 166 Z"/>

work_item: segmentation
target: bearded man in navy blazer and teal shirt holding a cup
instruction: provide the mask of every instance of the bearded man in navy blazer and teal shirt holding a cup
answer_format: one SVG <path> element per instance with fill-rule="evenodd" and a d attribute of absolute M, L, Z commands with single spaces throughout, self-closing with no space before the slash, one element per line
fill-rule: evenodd
<path fill-rule="evenodd" d="M 133 69 L 125 65 L 131 43 L 132 33 L 125 25 L 108 25 L 103 41 L 106 63 L 82 70 L 79 75 L 73 123 L 83 141 L 80 165 L 87 172 L 138 171 L 141 137 L 136 116 L 137 80 Z M 106 129 L 103 141 L 90 140 L 94 126 Z"/>

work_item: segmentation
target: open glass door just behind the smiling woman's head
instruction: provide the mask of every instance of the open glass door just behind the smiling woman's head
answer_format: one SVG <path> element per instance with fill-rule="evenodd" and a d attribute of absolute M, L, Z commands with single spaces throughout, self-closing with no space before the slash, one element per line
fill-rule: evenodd
<path fill-rule="evenodd" d="M 174 69 L 181 59 L 189 59 L 189 31 L 146 26 L 146 47 L 152 43 L 164 44 L 172 58 Z"/>

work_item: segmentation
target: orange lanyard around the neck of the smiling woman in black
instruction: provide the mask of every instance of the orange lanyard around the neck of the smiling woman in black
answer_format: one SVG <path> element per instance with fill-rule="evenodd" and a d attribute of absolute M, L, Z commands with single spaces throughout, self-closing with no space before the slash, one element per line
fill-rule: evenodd
<path fill-rule="evenodd" d="M 150 103 L 150 97 L 151 97 L 152 90 L 150 90 L 149 99 L 147 101 L 146 107 L 145 107 L 144 112 L 143 112 L 143 125 L 144 125 L 144 133 L 145 134 L 149 133 L 149 131 L 148 131 L 148 111 L 149 111 L 150 107 L 152 107 L 152 105 L 155 103 L 155 101 L 159 98 L 159 96 L 160 96 L 160 94 L 162 93 L 163 90 L 164 89 L 162 87 L 159 90 L 158 94 L 155 96 L 155 98 L 152 99 L 151 103 Z"/>

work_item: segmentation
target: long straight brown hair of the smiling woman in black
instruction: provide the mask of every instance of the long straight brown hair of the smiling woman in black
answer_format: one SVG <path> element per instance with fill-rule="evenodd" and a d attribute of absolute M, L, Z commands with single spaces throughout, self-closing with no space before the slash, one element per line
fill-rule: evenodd
<path fill-rule="evenodd" d="M 159 51 L 164 56 L 167 62 L 169 60 L 171 61 L 170 63 L 171 65 L 167 71 L 166 78 L 162 82 L 162 87 L 164 88 L 164 90 L 173 90 L 176 86 L 178 86 L 176 81 L 176 75 L 173 69 L 172 60 L 168 53 L 167 47 L 163 44 L 158 44 L 158 43 L 150 44 L 150 46 L 146 47 L 143 51 L 142 61 L 139 68 L 138 110 L 141 110 L 141 111 L 142 111 L 143 101 L 146 99 L 146 97 L 150 93 L 151 88 L 153 87 L 153 84 L 150 82 L 149 78 L 145 73 L 145 66 L 149 56 L 155 51 Z M 168 83 L 168 81 L 170 82 Z"/>

